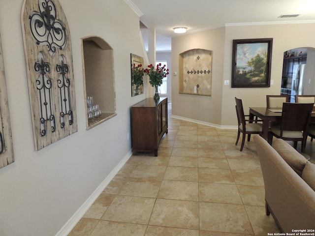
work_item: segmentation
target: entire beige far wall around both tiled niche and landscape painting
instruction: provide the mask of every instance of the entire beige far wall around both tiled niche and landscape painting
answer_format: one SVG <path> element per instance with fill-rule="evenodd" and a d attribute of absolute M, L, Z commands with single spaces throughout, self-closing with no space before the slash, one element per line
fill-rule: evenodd
<path fill-rule="evenodd" d="M 270 88 L 231 88 L 233 39 L 273 38 Z M 266 94 L 280 94 L 283 53 L 299 47 L 315 47 L 315 24 L 226 26 L 172 38 L 173 71 L 178 69 L 178 55 L 193 48 L 213 51 L 212 96 L 178 94 L 178 80 L 173 76 L 173 115 L 220 125 L 237 125 L 234 97 L 243 99 L 245 112 L 251 106 L 266 106 Z M 222 45 L 224 42 L 224 45 Z M 221 113 L 221 114 L 219 114 Z"/>

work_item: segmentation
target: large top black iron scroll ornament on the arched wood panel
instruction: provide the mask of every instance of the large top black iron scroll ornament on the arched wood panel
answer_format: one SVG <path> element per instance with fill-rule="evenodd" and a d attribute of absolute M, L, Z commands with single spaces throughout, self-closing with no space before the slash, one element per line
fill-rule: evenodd
<path fill-rule="evenodd" d="M 30 14 L 31 32 L 40 46 L 47 45 L 50 54 L 56 52 L 56 47 L 63 50 L 66 47 L 66 29 L 57 19 L 56 6 L 52 0 L 38 0 L 39 12 Z"/>

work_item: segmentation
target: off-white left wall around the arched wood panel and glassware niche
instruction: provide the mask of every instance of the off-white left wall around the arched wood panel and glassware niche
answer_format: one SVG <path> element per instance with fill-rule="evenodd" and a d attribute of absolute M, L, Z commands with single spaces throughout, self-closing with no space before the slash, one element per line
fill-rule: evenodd
<path fill-rule="evenodd" d="M 0 169 L 0 235 L 53 236 L 87 200 L 92 202 L 90 196 L 95 197 L 97 188 L 131 155 L 127 140 L 129 108 L 146 94 L 131 97 L 130 53 L 144 54 L 139 17 L 124 0 L 81 0 L 79 4 L 77 0 L 60 0 L 71 34 L 78 132 L 35 151 L 21 30 L 22 3 L 0 1 L 15 155 L 13 164 Z M 87 131 L 81 38 L 91 35 L 103 38 L 113 48 L 117 116 Z"/>

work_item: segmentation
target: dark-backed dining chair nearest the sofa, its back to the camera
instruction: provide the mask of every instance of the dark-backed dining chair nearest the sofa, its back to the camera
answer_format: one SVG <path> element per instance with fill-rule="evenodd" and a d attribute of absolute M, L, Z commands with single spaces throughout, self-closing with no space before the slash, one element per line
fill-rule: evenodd
<path fill-rule="evenodd" d="M 293 147 L 297 148 L 297 142 L 301 141 L 301 152 L 304 152 L 308 136 L 308 126 L 312 115 L 314 103 L 289 103 L 282 107 L 280 125 L 271 125 L 268 132 L 268 143 L 272 145 L 273 136 L 293 141 Z"/>

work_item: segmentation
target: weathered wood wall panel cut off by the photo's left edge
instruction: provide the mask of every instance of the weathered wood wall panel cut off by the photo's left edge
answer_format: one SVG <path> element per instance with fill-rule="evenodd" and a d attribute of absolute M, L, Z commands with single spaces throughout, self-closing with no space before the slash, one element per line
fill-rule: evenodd
<path fill-rule="evenodd" d="M 0 39 L 0 168 L 14 162 L 10 115 Z"/>

